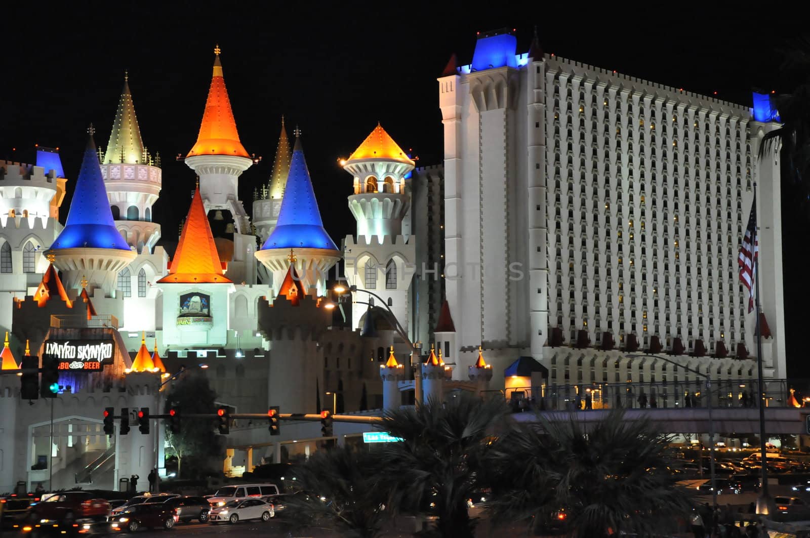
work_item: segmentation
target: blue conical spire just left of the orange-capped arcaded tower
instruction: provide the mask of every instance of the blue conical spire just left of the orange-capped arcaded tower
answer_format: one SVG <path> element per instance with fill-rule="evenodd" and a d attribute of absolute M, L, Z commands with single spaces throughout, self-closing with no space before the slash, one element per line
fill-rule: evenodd
<path fill-rule="evenodd" d="M 290 173 L 281 201 L 279 220 L 262 250 L 267 249 L 329 249 L 338 250 L 323 229 L 318 201 L 306 168 L 301 131 L 296 127 L 296 145 L 292 148 Z"/>

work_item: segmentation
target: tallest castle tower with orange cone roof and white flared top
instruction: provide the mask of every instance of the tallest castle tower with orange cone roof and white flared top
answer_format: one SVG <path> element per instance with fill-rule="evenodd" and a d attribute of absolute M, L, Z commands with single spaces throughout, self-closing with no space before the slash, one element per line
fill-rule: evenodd
<path fill-rule="evenodd" d="M 254 251 L 256 238 L 251 234 L 250 219 L 239 199 L 239 176 L 253 160 L 239 141 L 231 101 L 225 88 L 220 63 L 220 47 L 214 49 L 214 72 L 203 113 L 197 143 L 185 156 L 185 164 L 199 176 L 199 190 L 208 211 L 228 211 L 233 219 L 232 259 L 228 275 L 234 282 L 256 283 Z M 229 229 L 230 227 L 226 227 Z M 228 232 L 228 240 L 231 233 Z M 230 249 L 228 249 L 230 250 Z"/>

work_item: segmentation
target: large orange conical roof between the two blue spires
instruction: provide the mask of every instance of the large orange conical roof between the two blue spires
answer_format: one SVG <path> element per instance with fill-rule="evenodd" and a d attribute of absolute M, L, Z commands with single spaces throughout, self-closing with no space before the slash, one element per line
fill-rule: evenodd
<path fill-rule="evenodd" d="M 199 186 L 194 190 L 189 215 L 185 217 L 183 233 L 177 250 L 168 268 L 168 275 L 158 280 L 160 283 L 182 282 L 198 284 L 202 282 L 224 282 L 230 280 L 224 276 L 220 255 L 208 224 L 203 198 Z"/>

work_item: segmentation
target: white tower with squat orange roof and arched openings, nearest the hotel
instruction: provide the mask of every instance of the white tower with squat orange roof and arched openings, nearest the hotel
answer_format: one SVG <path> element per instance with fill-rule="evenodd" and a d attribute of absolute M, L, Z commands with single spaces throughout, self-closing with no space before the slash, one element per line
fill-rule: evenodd
<path fill-rule="evenodd" d="M 410 206 L 405 176 L 414 162 L 377 124 L 341 164 L 354 177 L 348 203 L 357 220 L 356 237 L 345 240 L 345 275 L 358 288 L 382 297 L 407 331 L 416 239 L 403 236 L 403 218 Z M 363 312 L 356 310 L 352 327 L 360 327 Z"/>

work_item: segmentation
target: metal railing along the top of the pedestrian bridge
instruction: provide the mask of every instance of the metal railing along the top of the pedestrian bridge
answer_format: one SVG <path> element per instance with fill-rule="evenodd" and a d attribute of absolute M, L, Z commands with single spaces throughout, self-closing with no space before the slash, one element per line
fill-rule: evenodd
<path fill-rule="evenodd" d="M 765 407 L 794 407 L 787 379 L 767 379 L 762 392 Z M 760 399 L 755 380 L 723 379 L 712 381 L 710 390 L 706 382 L 630 382 L 580 383 L 577 385 L 540 385 L 507 387 L 505 391 L 485 391 L 491 398 L 505 398 L 514 411 L 529 408 L 541 411 L 576 411 L 577 409 L 680 409 L 756 408 Z"/>

